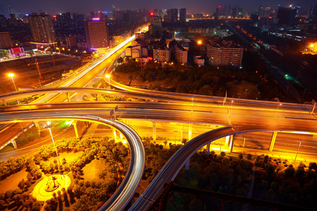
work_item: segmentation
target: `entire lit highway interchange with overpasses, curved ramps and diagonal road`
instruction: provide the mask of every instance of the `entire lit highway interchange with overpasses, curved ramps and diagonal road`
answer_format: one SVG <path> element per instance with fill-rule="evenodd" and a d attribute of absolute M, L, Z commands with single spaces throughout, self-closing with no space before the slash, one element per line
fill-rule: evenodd
<path fill-rule="evenodd" d="M 32 105 L 3 106 L 0 108 L 0 122 L 27 122 L 30 120 L 88 120 L 110 124 L 116 127 L 129 141 L 131 148 L 131 162 L 125 181 L 118 188 L 113 197 L 101 207 L 101 210 L 123 210 L 132 198 L 139 185 L 144 171 L 144 148 L 141 139 L 136 132 L 118 121 L 107 120 L 109 112 L 118 106 L 118 119 L 138 119 L 149 121 L 170 121 L 185 123 L 219 124 L 225 127 L 206 132 L 192 139 L 180 148 L 156 178 L 149 185 L 142 196 L 130 210 L 147 210 L 151 203 L 161 193 L 163 184 L 175 178 L 179 170 L 199 148 L 211 141 L 231 134 L 244 132 L 306 132 L 316 133 L 317 124 L 315 113 L 312 113 L 312 105 L 295 103 L 251 101 L 236 98 L 224 98 L 213 96 L 197 96 L 191 94 L 176 94 L 157 92 L 144 89 L 126 87 L 111 80 L 111 85 L 123 91 L 82 88 L 101 71 L 112 66 L 114 60 L 120 56 L 120 51 L 114 53 L 94 66 L 88 65 L 72 79 L 68 79 L 58 87 L 19 91 L 0 96 L 1 101 L 24 98 L 44 94 L 42 98 Z M 102 63 L 103 62 L 103 63 Z M 94 63 L 93 63 L 94 64 Z M 106 75 L 104 72 L 104 77 Z M 108 79 L 106 79 L 107 81 Z M 71 82 L 70 82 L 71 81 Z M 72 86 L 70 88 L 70 86 Z M 41 93 L 42 92 L 42 93 Z M 124 96 L 125 98 L 142 98 L 147 101 L 137 102 L 68 102 L 64 93 L 94 93 Z M 62 93 L 62 94 L 58 94 Z M 56 95 L 58 94 L 58 95 Z M 49 103 L 47 103 L 49 101 Z M 132 151 L 134 153 L 132 153 Z"/>

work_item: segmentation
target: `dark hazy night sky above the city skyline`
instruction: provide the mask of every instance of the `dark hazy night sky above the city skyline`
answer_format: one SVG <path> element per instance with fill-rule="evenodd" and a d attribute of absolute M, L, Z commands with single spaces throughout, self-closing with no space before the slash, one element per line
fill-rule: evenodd
<path fill-rule="evenodd" d="M 187 8 L 188 13 L 214 13 L 216 7 L 224 6 L 225 4 L 235 6 L 239 5 L 244 11 L 252 12 L 259 8 L 260 5 L 271 8 L 278 8 L 278 4 L 281 6 L 299 5 L 304 9 L 308 9 L 309 6 L 316 4 L 316 0 L 160 0 L 160 1 L 144 1 L 144 0 L 0 0 L 0 13 L 8 16 L 6 6 L 10 5 L 15 8 L 18 13 L 32 13 L 44 11 L 51 15 L 57 13 L 77 12 L 77 13 L 89 13 L 90 11 L 112 11 L 112 5 L 120 10 L 130 8 L 132 10 L 149 8 Z"/>

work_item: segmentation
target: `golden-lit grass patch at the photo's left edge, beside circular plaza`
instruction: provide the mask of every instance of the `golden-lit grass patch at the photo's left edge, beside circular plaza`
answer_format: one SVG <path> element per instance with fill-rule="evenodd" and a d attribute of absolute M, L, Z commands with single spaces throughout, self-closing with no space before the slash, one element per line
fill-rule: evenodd
<path fill-rule="evenodd" d="M 8 190 L 15 190 L 18 188 L 18 183 L 22 179 L 27 180 L 28 172 L 25 171 L 26 169 L 20 170 L 20 172 L 16 172 L 15 174 L 11 174 L 6 179 L 0 181 L 0 193 L 6 193 Z"/>

